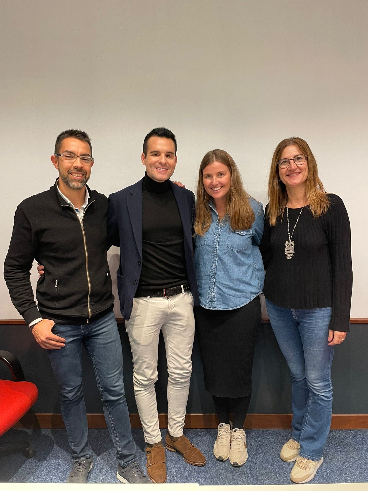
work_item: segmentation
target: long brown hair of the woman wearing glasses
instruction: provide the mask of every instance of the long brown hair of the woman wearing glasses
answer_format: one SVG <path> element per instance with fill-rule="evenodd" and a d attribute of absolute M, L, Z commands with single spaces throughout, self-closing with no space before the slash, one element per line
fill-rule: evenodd
<path fill-rule="evenodd" d="M 268 177 L 268 210 L 267 215 L 271 225 L 275 225 L 277 218 L 284 215 L 285 207 L 288 203 L 288 193 L 285 184 L 279 179 L 278 161 L 284 148 L 290 145 L 297 145 L 300 152 L 307 157 L 308 176 L 306 179 L 306 197 L 309 201 L 309 208 L 315 218 L 320 217 L 328 210 L 330 201 L 323 184 L 318 177 L 318 167 L 315 157 L 308 143 L 299 138 L 292 136 L 285 138 L 275 148 L 272 156 L 271 168 Z"/>

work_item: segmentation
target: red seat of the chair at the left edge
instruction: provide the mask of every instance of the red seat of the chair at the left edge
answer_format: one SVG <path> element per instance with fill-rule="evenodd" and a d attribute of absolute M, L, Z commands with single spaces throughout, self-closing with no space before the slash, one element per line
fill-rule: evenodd
<path fill-rule="evenodd" d="M 0 380 L 0 435 L 12 428 L 36 402 L 37 387 L 32 382 Z"/>

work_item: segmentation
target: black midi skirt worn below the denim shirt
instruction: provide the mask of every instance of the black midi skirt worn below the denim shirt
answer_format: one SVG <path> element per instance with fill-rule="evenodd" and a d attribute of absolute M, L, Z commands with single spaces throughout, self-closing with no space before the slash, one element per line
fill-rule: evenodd
<path fill-rule="evenodd" d="M 194 307 L 194 317 L 206 390 L 217 397 L 250 394 L 260 297 L 234 310 Z"/>

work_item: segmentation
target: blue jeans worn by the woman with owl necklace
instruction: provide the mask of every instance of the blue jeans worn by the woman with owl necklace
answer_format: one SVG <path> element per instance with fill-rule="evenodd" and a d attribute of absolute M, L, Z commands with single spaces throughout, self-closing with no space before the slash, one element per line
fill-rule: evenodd
<path fill-rule="evenodd" d="M 323 455 L 332 415 L 331 365 L 328 346 L 331 307 L 290 309 L 266 299 L 268 316 L 291 376 L 292 439 L 301 457 Z"/>

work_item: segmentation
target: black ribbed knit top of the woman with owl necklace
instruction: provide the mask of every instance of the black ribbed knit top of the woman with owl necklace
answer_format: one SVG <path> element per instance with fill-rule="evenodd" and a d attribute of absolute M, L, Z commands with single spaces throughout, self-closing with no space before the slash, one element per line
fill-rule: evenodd
<path fill-rule="evenodd" d="M 295 309 L 332 307 L 330 329 L 349 330 L 352 265 L 350 223 L 342 199 L 329 194 L 330 207 L 314 218 L 304 207 L 292 241 L 294 254 L 285 255 L 289 241 L 286 210 L 272 227 L 267 218 L 260 250 L 266 270 L 264 296 L 276 305 Z M 289 208 L 290 234 L 301 208 Z"/>

